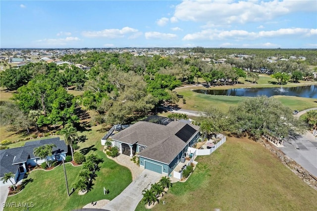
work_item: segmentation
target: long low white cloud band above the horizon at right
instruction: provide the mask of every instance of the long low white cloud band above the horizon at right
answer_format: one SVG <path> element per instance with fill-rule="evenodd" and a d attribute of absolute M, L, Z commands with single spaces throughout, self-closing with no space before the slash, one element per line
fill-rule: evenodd
<path fill-rule="evenodd" d="M 305 28 L 286 28 L 278 29 L 275 31 L 260 31 L 260 32 L 248 32 L 245 30 L 230 30 L 221 31 L 217 29 L 206 29 L 193 34 L 187 34 L 183 40 L 245 40 L 245 39 L 258 39 L 268 37 L 281 37 L 281 36 L 302 36 L 309 37 L 317 35 L 317 29 L 305 29 Z"/>

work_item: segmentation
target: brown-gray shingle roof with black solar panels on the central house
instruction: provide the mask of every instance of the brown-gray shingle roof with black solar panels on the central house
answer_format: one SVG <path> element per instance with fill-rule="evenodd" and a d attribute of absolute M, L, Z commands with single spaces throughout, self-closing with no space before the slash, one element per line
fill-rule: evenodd
<path fill-rule="evenodd" d="M 180 121 L 172 121 L 167 125 L 139 121 L 113 135 L 112 139 L 147 146 L 139 156 L 169 164 L 198 130 L 198 126 Z"/>

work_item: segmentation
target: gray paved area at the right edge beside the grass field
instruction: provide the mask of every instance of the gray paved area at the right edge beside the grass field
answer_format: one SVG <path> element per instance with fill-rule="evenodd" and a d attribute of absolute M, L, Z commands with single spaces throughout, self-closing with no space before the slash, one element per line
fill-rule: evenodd
<path fill-rule="evenodd" d="M 317 140 L 311 132 L 286 138 L 279 149 L 317 177 Z"/>

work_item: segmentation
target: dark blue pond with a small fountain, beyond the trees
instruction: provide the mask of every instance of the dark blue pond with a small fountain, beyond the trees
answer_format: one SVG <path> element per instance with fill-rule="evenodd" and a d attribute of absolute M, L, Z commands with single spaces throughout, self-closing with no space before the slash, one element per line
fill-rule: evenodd
<path fill-rule="evenodd" d="M 296 96 L 303 98 L 317 98 L 317 85 L 299 86 L 299 87 L 274 87 L 274 88 L 238 88 L 228 90 L 203 90 L 198 89 L 194 92 L 208 95 L 228 95 L 256 97 L 265 95 L 271 97 L 274 95 Z"/>

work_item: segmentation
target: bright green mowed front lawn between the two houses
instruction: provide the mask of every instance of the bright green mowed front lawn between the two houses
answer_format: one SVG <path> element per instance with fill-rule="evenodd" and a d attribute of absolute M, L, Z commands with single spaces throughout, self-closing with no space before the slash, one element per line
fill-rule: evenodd
<path fill-rule="evenodd" d="M 94 152 L 104 159 L 100 164 L 100 171 L 97 172 L 96 180 L 92 189 L 83 196 L 79 196 L 76 190 L 71 196 L 67 196 L 65 188 L 65 178 L 62 166 L 58 166 L 51 171 L 32 171 L 27 179 L 33 180 L 28 183 L 25 189 L 12 197 L 8 197 L 6 203 L 34 203 L 34 211 L 70 211 L 79 209 L 92 201 L 102 199 L 111 200 L 119 195 L 132 181 L 128 168 L 123 167 L 111 159 L 106 158 L 102 152 L 100 140 L 98 140 Z M 92 153 L 93 151 L 90 151 Z M 81 166 L 74 167 L 66 164 L 66 172 L 69 188 L 78 180 L 78 172 Z M 109 194 L 104 195 L 103 188 L 109 189 Z M 4 211 L 16 211 L 16 209 L 4 209 Z"/>

